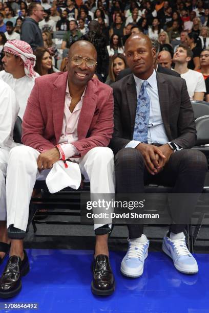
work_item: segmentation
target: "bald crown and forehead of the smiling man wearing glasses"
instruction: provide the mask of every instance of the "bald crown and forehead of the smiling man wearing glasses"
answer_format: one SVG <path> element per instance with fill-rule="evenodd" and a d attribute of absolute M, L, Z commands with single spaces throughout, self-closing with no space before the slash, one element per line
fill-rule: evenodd
<path fill-rule="evenodd" d="M 72 44 L 69 49 L 68 56 L 73 57 L 74 55 L 83 56 L 82 52 L 85 52 L 86 57 L 97 59 L 97 52 L 94 45 L 87 40 L 78 40 Z"/>

